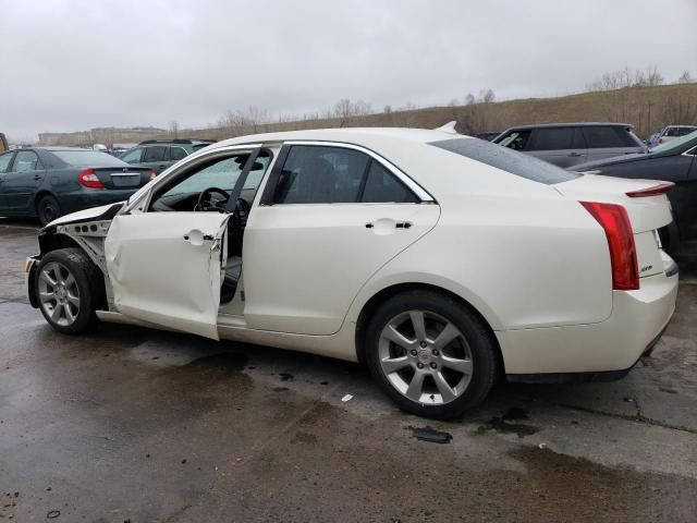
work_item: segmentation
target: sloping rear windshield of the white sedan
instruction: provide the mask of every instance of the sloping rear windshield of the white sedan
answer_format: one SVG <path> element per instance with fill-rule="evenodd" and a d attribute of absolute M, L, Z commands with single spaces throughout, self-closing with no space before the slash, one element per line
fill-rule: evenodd
<path fill-rule="evenodd" d="M 538 160 L 531 156 L 502 147 L 490 142 L 476 138 L 454 138 L 431 142 L 430 145 L 449 150 L 460 156 L 480 161 L 487 166 L 526 178 L 534 182 L 553 183 L 575 180 L 580 174 L 565 171 L 552 163 Z"/>

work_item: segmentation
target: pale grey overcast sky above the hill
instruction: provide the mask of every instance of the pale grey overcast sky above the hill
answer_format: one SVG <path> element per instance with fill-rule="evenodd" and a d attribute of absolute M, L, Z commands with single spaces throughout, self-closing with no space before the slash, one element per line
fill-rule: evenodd
<path fill-rule="evenodd" d="M 0 132 L 216 123 L 697 77 L 697 0 L 0 0 Z M 697 88 L 697 87 L 696 87 Z"/>

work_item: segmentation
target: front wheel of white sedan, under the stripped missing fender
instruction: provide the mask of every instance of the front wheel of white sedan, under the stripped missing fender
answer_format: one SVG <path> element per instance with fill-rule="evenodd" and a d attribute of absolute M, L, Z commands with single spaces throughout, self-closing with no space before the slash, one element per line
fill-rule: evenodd
<path fill-rule="evenodd" d="M 47 278 L 44 278 L 42 271 L 45 269 L 48 272 L 46 275 L 48 279 L 58 282 L 59 285 L 60 278 L 57 278 L 56 270 L 61 272 L 64 280 L 70 281 L 63 285 L 62 299 L 59 295 L 58 287 L 52 285 Z M 72 276 L 74 283 L 68 275 Z M 101 271 L 82 250 L 60 248 L 51 251 L 39 262 L 36 269 L 34 292 L 41 314 L 53 329 L 64 335 L 80 335 L 89 330 L 97 323 L 96 311 L 103 300 L 101 281 Z M 40 294 L 42 290 L 49 291 L 49 293 L 52 291 L 56 297 L 51 301 L 48 301 L 49 299 L 45 301 Z M 71 297 L 74 300 L 75 296 L 77 296 L 77 306 L 68 303 Z M 58 300 L 62 300 L 62 303 L 59 304 Z M 71 320 L 69 313 L 65 312 L 65 306 L 70 307 L 70 315 L 74 319 Z M 62 312 L 59 311 L 58 317 L 53 317 L 52 312 L 57 308 L 62 308 Z"/>

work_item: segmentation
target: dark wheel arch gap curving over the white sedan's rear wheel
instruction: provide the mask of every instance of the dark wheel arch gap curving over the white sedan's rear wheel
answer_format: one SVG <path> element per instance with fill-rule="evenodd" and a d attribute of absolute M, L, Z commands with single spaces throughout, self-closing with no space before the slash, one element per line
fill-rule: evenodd
<path fill-rule="evenodd" d="M 462 297 L 461 295 L 444 289 L 443 287 L 439 287 L 432 283 L 423 283 L 423 282 L 402 282 L 391 284 L 386 287 L 378 292 L 376 292 L 369 300 L 364 303 L 360 312 L 358 313 L 358 317 L 356 319 L 356 328 L 355 328 L 355 346 L 356 346 L 356 357 L 359 363 L 365 362 L 365 351 L 366 351 L 366 331 L 370 317 L 378 309 L 380 305 L 390 300 L 391 297 L 409 291 L 429 291 L 437 294 L 441 294 L 443 296 L 450 297 L 456 301 L 458 304 L 463 305 L 467 309 L 469 309 L 482 325 L 489 331 L 489 336 L 491 338 L 491 342 L 496 348 L 496 357 L 499 367 L 499 373 L 501 376 L 505 374 L 503 353 L 501 352 L 501 346 L 499 344 L 499 340 L 497 339 L 493 327 L 489 320 L 487 320 L 486 316 L 477 309 L 472 303 Z"/>

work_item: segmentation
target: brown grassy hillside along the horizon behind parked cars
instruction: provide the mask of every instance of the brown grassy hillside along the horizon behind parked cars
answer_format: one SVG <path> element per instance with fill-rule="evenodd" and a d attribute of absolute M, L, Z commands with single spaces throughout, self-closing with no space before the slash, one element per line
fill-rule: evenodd
<path fill-rule="evenodd" d="M 558 98 L 527 98 L 469 106 L 430 107 L 408 111 L 382 112 L 350 118 L 306 118 L 288 122 L 246 122 L 240 125 L 188 129 L 179 137 L 223 139 L 245 134 L 340 126 L 438 127 L 452 120 L 465 134 L 503 131 L 526 123 L 577 121 L 626 122 L 641 137 L 663 125 L 697 124 L 697 83 L 626 87 L 616 90 L 583 93 Z M 93 130 L 81 133 L 46 133 L 42 145 L 90 143 L 130 143 L 171 136 L 167 131 Z M 89 143 L 89 142 L 88 142 Z"/>

